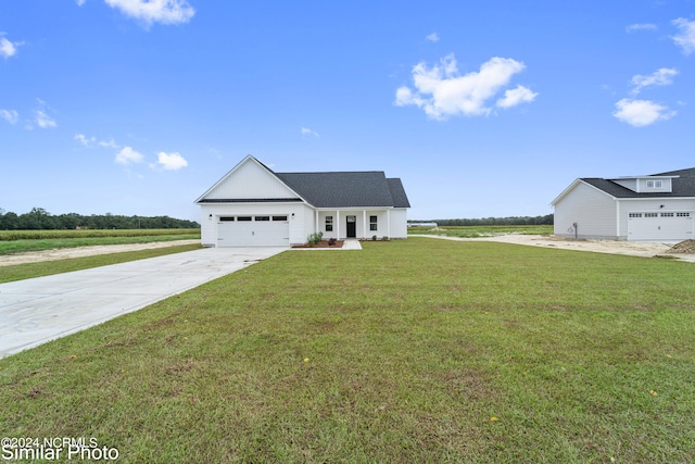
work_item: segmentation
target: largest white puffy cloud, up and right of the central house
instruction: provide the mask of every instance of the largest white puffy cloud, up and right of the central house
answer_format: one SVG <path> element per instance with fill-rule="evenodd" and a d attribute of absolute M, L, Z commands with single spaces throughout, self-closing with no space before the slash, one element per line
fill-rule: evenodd
<path fill-rule="evenodd" d="M 445 120 L 458 114 L 486 115 L 491 112 L 488 101 L 525 67 L 523 63 L 516 60 L 493 58 L 483 63 L 479 72 L 460 75 L 453 54 L 441 59 L 440 64 L 431 68 L 425 63 L 418 63 L 413 67 L 415 91 L 408 87 L 399 88 L 394 104 L 416 105 L 433 120 Z M 509 108 L 532 101 L 533 98 L 535 93 L 526 87 L 517 87 L 509 97 L 501 99 L 498 104 L 508 104 L 503 108 Z"/>

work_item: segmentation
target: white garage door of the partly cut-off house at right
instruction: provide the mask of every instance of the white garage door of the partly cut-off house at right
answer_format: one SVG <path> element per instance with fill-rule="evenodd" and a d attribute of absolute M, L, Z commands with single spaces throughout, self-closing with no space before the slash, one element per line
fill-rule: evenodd
<path fill-rule="evenodd" d="M 628 240 L 686 240 L 693 238 L 691 212 L 628 214 Z"/>

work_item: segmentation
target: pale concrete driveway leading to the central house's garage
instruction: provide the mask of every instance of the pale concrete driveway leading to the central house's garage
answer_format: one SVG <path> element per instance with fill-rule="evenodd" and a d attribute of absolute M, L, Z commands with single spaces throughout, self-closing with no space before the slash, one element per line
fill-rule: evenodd
<path fill-rule="evenodd" d="M 247 267 L 287 248 L 206 248 L 0 284 L 0 358 Z"/>

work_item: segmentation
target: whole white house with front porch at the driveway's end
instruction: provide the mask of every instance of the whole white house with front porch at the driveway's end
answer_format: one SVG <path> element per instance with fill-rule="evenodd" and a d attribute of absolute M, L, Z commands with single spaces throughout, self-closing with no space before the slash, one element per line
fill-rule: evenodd
<path fill-rule="evenodd" d="M 381 171 L 275 173 L 249 155 L 195 200 L 205 247 L 306 243 L 324 238 L 407 238 L 408 198 Z"/>

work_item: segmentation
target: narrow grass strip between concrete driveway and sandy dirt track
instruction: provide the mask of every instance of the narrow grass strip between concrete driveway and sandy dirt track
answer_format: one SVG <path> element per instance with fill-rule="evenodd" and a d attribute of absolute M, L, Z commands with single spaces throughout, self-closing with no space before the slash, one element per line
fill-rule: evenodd
<path fill-rule="evenodd" d="M 0 266 L 0 284 L 22 280 L 33 277 L 50 276 L 53 274 L 68 273 L 72 271 L 88 269 L 90 267 L 106 266 L 110 264 L 125 263 L 128 261 L 144 260 L 147 258 L 163 256 L 165 254 L 180 253 L 200 249 L 200 243 L 175 244 L 151 250 L 125 251 L 121 253 L 98 254 L 93 256 L 73 258 L 68 260 L 43 261 L 37 263 Z"/>

